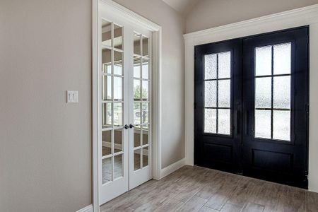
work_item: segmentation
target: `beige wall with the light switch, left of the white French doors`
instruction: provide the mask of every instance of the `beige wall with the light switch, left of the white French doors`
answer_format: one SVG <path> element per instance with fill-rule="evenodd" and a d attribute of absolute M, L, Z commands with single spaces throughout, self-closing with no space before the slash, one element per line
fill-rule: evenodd
<path fill-rule="evenodd" d="M 90 11 L 90 0 L 0 1 L 0 211 L 92 202 Z"/>

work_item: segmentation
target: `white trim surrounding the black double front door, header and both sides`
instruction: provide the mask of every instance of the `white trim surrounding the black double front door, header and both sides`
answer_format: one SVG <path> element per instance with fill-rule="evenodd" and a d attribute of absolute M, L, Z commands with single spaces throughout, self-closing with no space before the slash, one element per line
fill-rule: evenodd
<path fill-rule="evenodd" d="M 303 25 L 310 25 L 310 92 L 314 94 L 318 90 L 318 87 L 315 86 L 318 81 L 318 4 L 184 35 L 187 165 L 194 165 L 194 46 Z M 310 107 L 318 107 L 318 101 L 315 100 L 314 95 L 310 96 Z M 318 192 L 318 168 L 315 162 L 317 153 L 314 152 L 318 149 L 318 142 L 316 142 L 318 132 L 314 129 L 317 124 L 318 112 L 312 110 L 310 111 L 309 189 L 314 192 Z"/>

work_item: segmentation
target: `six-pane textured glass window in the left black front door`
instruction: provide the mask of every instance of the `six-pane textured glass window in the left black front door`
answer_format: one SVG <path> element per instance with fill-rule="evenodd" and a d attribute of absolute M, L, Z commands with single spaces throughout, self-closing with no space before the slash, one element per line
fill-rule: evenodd
<path fill-rule="evenodd" d="M 204 132 L 230 135 L 231 52 L 204 55 Z"/>

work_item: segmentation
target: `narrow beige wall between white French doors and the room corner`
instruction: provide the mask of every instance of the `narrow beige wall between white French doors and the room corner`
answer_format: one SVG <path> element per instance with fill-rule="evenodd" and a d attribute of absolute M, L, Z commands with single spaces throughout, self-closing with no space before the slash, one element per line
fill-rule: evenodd
<path fill-rule="evenodd" d="M 182 16 L 161 0 L 115 0 L 163 28 L 162 167 L 184 158 L 184 33 Z"/>

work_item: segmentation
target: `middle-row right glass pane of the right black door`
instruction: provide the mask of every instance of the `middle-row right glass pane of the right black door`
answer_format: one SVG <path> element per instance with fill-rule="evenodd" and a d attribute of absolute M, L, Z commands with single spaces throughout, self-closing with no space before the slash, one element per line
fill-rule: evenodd
<path fill-rule="evenodd" d="M 273 78 L 273 107 L 290 109 L 290 76 Z"/>

